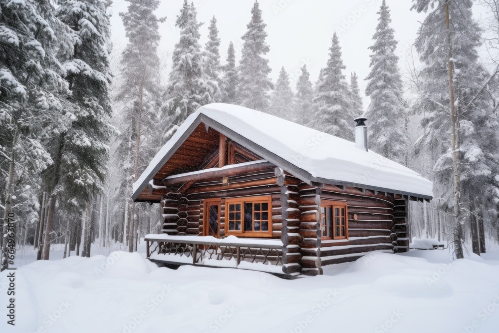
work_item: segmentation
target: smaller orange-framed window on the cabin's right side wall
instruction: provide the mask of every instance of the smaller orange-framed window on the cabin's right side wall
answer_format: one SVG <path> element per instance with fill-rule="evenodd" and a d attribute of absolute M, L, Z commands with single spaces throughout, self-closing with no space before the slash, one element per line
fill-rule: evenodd
<path fill-rule="evenodd" d="M 346 202 L 323 200 L 320 206 L 322 239 L 347 239 L 348 220 Z"/>

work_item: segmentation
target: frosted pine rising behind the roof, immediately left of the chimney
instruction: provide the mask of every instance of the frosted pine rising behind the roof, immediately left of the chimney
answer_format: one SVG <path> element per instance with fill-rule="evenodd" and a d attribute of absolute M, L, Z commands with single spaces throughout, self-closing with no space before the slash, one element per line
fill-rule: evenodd
<path fill-rule="evenodd" d="M 352 141 L 353 115 L 348 83 L 343 75 L 341 47 L 336 32 L 331 38 L 327 66 L 321 70 L 313 97 L 315 115 L 311 125 L 318 130 Z"/>

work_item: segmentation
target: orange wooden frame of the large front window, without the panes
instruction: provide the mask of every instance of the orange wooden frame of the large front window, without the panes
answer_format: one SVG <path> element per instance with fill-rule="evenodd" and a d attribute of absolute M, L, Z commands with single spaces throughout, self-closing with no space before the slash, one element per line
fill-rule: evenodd
<path fill-rule="evenodd" d="M 266 203 L 268 206 L 268 231 L 246 231 L 245 230 L 245 203 Z M 241 204 L 241 231 L 229 230 L 229 205 Z M 254 213 L 253 213 L 254 214 Z M 254 215 L 253 215 L 254 219 Z M 254 224 L 254 221 L 253 221 Z M 256 196 L 256 197 L 240 197 L 225 199 L 225 235 L 237 237 L 272 237 L 272 197 L 271 196 Z"/>

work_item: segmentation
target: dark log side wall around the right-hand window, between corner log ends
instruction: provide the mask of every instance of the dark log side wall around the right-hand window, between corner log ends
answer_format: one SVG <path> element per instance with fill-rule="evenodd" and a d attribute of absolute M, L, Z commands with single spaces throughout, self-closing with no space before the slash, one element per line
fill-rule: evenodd
<path fill-rule="evenodd" d="M 355 261 L 371 251 L 394 251 L 394 198 L 353 187 L 324 185 L 322 199 L 347 202 L 348 240 L 324 240 L 322 265 Z M 354 218 L 356 215 L 357 219 Z"/>

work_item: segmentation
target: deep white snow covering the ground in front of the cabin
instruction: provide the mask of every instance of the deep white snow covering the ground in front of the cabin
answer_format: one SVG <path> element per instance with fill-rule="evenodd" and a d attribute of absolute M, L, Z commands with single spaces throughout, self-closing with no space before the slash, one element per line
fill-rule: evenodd
<path fill-rule="evenodd" d="M 16 270 L 15 327 L 7 273 L 0 332 L 499 332 L 499 249 L 458 261 L 448 250 L 374 253 L 298 280 L 157 268 L 127 252 L 39 261 Z"/>

